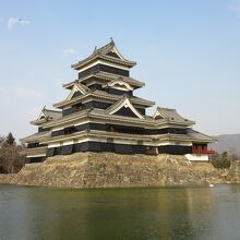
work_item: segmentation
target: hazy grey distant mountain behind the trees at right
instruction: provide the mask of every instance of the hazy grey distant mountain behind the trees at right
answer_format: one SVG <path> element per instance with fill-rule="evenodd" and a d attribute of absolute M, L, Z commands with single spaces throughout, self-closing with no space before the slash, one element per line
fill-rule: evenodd
<path fill-rule="evenodd" d="M 239 134 L 223 134 L 215 136 L 218 143 L 209 144 L 218 153 L 227 151 L 229 154 L 237 154 L 240 156 L 240 133 Z"/>

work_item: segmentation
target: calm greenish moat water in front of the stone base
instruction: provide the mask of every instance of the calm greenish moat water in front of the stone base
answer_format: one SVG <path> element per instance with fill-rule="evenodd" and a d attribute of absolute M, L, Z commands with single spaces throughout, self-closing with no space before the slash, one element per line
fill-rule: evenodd
<path fill-rule="evenodd" d="M 0 185 L 0 239 L 240 239 L 240 184 L 69 190 Z"/>

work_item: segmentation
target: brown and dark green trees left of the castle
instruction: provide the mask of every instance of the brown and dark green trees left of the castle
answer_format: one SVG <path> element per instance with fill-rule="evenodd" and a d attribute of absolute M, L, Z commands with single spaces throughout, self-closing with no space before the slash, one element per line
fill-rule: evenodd
<path fill-rule="evenodd" d="M 21 153 L 24 145 L 19 145 L 10 132 L 0 136 L 0 173 L 15 173 L 25 165 L 25 156 Z"/>

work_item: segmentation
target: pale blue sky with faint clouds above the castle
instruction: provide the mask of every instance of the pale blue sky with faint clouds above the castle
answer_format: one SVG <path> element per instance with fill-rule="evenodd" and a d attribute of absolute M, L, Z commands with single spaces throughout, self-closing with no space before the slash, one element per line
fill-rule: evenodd
<path fill-rule="evenodd" d="M 0 135 L 34 133 L 67 98 L 71 64 L 110 37 L 137 62 L 135 95 L 206 134 L 240 133 L 240 0 L 0 0 Z"/>

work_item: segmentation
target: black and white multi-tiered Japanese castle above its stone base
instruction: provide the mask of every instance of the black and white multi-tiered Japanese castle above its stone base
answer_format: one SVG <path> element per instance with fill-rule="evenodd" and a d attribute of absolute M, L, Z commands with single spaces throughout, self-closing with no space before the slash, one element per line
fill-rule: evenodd
<path fill-rule="evenodd" d="M 77 152 L 117 154 L 178 154 L 189 160 L 208 160 L 207 144 L 215 139 L 192 129 L 194 121 L 176 109 L 146 109 L 154 101 L 135 96 L 145 84 L 130 76 L 136 64 L 125 59 L 113 40 L 86 59 L 72 64 L 75 81 L 63 84 L 64 100 L 44 108 L 31 123 L 38 132 L 21 140 L 27 145 L 27 163 Z"/>

